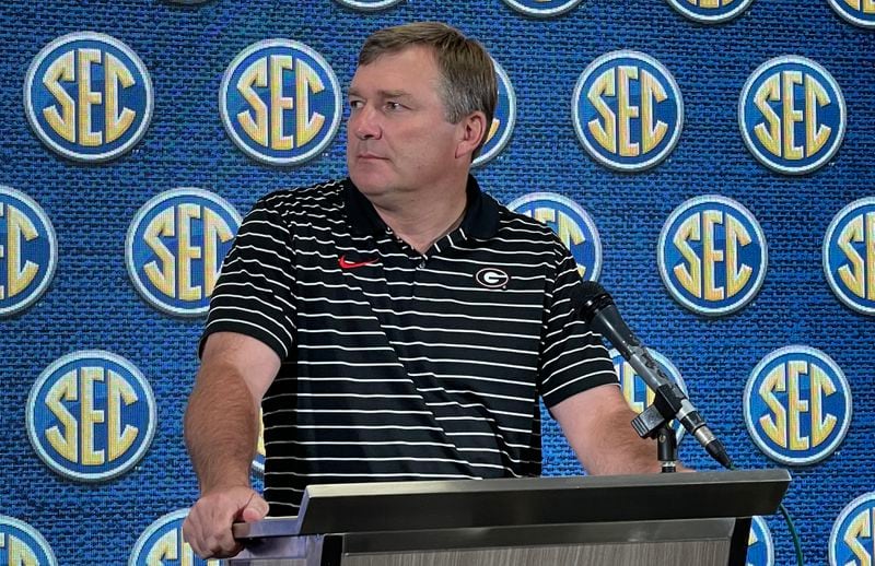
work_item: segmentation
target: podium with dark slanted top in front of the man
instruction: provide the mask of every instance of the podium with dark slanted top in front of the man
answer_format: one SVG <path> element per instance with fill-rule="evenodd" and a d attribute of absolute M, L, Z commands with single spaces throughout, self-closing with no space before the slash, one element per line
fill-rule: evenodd
<path fill-rule="evenodd" d="M 231 566 L 744 566 L 786 470 L 307 487 Z"/>

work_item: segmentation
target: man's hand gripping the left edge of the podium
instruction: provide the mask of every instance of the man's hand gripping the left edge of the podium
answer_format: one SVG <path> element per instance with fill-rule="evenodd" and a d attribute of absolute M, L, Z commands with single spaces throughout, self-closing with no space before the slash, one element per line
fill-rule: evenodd
<path fill-rule="evenodd" d="M 247 486 L 213 490 L 203 494 L 188 511 L 183 536 L 201 558 L 228 558 L 243 550 L 234 540 L 234 522 L 255 522 L 265 518 L 267 502 Z"/>

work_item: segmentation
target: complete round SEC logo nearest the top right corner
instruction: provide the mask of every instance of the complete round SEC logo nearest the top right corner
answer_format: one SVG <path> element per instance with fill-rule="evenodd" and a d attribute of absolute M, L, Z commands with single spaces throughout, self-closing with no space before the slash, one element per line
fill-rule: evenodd
<path fill-rule="evenodd" d="M 826 164 L 841 145 L 847 110 L 839 84 L 804 57 L 777 57 L 745 83 L 738 123 L 750 153 L 778 173 L 802 175 Z"/>

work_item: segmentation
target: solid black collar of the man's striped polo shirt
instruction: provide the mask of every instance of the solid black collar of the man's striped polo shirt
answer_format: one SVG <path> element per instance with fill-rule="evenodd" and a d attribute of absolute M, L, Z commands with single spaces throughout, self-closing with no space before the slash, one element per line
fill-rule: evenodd
<path fill-rule="evenodd" d="M 349 177 L 343 179 L 343 204 L 347 217 L 352 226 L 353 234 L 365 236 L 369 234 L 383 234 L 386 223 L 380 217 L 371 201 L 361 193 Z M 499 228 L 499 203 L 480 190 L 477 179 L 468 175 L 468 185 L 465 189 L 467 205 L 465 217 L 459 227 L 466 236 L 486 239 L 495 235 Z"/>

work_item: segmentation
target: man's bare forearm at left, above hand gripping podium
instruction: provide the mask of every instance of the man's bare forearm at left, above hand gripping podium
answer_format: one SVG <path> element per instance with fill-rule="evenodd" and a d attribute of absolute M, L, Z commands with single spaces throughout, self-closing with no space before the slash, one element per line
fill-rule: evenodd
<path fill-rule="evenodd" d="M 258 428 L 258 408 L 240 375 L 202 367 L 185 413 L 186 446 L 201 493 L 249 485 Z"/>

